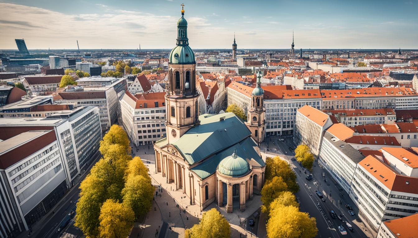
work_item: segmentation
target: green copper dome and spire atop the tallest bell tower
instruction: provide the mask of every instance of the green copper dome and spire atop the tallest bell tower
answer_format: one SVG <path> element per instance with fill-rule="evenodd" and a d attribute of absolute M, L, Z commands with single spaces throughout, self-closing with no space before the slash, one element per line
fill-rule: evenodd
<path fill-rule="evenodd" d="M 184 10 L 181 12 L 181 18 L 177 21 L 177 43 L 168 56 L 170 64 L 194 64 L 194 53 L 189 46 L 187 38 L 187 21 L 184 19 Z"/>

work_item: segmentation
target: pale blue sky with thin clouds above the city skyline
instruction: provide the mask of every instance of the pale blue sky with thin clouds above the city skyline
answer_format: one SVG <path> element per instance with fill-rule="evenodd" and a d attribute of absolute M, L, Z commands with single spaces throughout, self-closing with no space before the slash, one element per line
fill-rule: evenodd
<path fill-rule="evenodd" d="M 0 0 L 0 49 L 418 49 L 418 0 Z"/>

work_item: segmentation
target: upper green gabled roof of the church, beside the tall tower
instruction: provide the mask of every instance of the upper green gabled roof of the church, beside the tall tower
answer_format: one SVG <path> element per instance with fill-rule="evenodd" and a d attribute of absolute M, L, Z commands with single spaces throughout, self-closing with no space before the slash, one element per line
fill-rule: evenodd
<path fill-rule="evenodd" d="M 199 120 L 200 125 L 189 129 L 181 138 L 171 143 L 190 165 L 251 135 L 247 126 L 234 113 L 203 114 L 199 116 Z"/>

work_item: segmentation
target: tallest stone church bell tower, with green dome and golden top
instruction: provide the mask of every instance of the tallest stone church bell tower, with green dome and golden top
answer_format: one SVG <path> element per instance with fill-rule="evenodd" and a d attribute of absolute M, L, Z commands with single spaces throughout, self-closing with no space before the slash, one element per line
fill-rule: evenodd
<path fill-rule="evenodd" d="M 168 56 L 168 91 L 166 98 L 166 130 L 168 143 L 180 138 L 200 123 L 199 93 L 196 90 L 196 62 L 187 38 L 187 21 L 177 21 L 177 43 Z"/>

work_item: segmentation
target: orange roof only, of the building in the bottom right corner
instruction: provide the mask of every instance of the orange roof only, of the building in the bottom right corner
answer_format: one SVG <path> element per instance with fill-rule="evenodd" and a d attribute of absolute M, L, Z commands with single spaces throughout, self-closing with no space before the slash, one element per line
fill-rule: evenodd
<path fill-rule="evenodd" d="M 418 213 L 383 222 L 396 238 L 418 237 Z"/>

